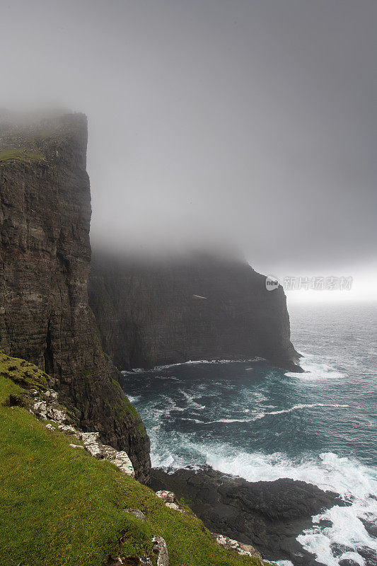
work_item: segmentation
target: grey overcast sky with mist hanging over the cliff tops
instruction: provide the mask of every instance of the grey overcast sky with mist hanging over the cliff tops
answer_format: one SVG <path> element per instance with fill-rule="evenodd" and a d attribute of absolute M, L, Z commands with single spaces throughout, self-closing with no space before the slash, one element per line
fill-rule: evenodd
<path fill-rule="evenodd" d="M 0 5 L 0 107 L 88 115 L 93 244 L 377 275 L 376 0 Z"/>

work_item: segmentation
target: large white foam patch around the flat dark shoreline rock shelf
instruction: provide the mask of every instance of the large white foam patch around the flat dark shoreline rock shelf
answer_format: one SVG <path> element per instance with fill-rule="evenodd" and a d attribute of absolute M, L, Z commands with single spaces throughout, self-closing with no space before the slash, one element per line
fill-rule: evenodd
<path fill-rule="evenodd" d="M 226 454 L 225 450 L 219 452 Z M 371 468 L 332 453 L 320 454 L 319 461 L 301 463 L 294 463 L 283 454 L 267 456 L 241 453 L 221 457 L 208 453 L 207 463 L 216 470 L 241 475 L 249 481 L 291 478 L 318 485 L 322 490 L 340 493 L 351 505 L 335 506 L 315 516 L 313 527 L 298 536 L 298 542 L 326 566 L 338 566 L 340 560 L 352 557 L 354 562 L 364 566 L 365 560 L 357 552 L 361 547 L 377 553 L 377 540 L 369 535 L 361 520 L 377 521 L 377 501 L 373 497 L 377 493 L 377 473 Z M 321 519 L 331 521 L 332 526 L 321 526 Z M 349 551 L 347 555 L 335 558 L 331 551 L 332 544 L 351 548 L 352 553 Z"/>

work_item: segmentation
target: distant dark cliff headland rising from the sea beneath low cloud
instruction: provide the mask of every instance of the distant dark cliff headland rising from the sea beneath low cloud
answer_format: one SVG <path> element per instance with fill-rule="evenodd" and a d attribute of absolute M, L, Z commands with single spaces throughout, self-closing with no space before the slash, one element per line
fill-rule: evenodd
<path fill-rule="evenodd" d="M 89 301 L 103 348 L 122 369 L 264 357 L 299 371 L 282 287 L 240 260 L 135 263 L 93 255 Z"/>

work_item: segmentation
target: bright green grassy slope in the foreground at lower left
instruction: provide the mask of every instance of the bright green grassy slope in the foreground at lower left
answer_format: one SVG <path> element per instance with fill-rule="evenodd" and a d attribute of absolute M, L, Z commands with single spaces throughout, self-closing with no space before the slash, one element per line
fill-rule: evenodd
<path fill-rule="evenodd" d="M 2 566 L 100 566 L 109 557 L 152 555 L 152 536 L 165 538 L 170 566 L 257 563 L 221 548 L 202 521 L 168 509 L 112 463 L 47 429 L 28 411 L 30 389 L 47 383 L 33 364 L 0 352 Z M 146 521 L 128 508 L 140 509 Z"/>

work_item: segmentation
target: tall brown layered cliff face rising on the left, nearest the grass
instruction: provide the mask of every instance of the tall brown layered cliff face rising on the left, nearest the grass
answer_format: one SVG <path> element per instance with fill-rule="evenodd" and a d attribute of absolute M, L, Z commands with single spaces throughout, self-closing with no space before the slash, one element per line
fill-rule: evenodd
<path fill-rule="evenodd" d="M 83 429 L 149 478 L 149 439 L 88 306 L 91 195 L 83 115 L 0 124 L 0 347 L 56 380 Z"/>

